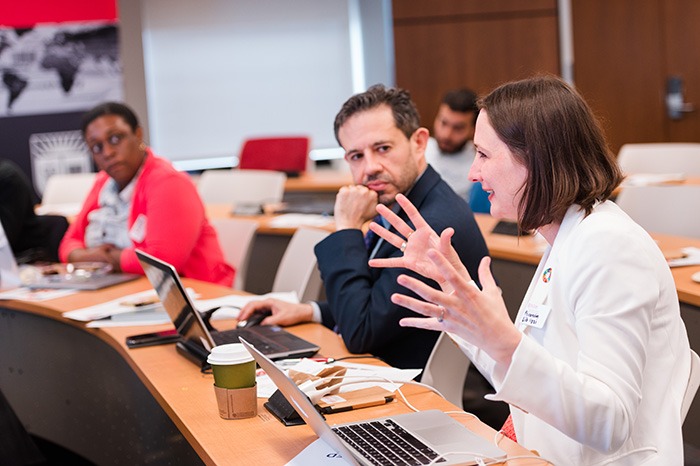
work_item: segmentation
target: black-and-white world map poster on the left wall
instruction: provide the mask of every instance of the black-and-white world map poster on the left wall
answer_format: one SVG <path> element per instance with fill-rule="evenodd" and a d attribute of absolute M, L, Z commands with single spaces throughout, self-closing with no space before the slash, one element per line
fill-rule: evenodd
<path fill-rule="evenodd" d="M 115 22 L 0 26 L 0 118 L 123 100 Z"/>

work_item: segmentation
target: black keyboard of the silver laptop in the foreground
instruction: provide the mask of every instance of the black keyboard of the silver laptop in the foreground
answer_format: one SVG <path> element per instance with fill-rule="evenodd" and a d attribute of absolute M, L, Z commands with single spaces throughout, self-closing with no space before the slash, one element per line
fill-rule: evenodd
<path fill-rule="evenodd" d="M 391 419 L 334 427 L 333 431 L 372 464 L 428 464 L 438 454 Z M 440 458 L 437 462 L 444 462 Z"/>

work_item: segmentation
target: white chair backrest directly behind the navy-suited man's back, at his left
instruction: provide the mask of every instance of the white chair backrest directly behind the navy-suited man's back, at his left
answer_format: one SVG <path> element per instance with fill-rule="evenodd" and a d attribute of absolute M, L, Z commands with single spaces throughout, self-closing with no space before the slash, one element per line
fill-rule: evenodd
<path fill-rule="evenodd" d="M 323 283 L 316 267 L 314 246 L 329 235 L 326 230 L 299 227 L 277 267 L 272 291 L 296 291 L 301 302 L 317 300 Z"/>

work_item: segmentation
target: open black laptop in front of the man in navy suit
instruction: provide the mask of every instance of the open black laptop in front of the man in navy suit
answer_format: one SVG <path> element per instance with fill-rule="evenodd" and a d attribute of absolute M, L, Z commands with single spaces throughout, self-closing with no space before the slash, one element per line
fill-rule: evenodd
<path fill-rule="evenodd" d="M 138 249 L 136 256 L 180 334 L 180 340 L 176 343 L 178 352 L 195 364 L 206 367 L 209 351 L 214 346 L 238 343 L 239 337 L 255 342 L 271 359 L 313 356 L 320 349 L 275 325 L 256 325 L 221 332 L 211 329 L 192 304 L 175 267 Z"/>

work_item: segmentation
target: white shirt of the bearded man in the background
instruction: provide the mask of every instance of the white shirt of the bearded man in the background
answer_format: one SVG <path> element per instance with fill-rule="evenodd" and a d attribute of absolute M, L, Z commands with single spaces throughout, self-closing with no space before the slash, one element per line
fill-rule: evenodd
<path fill-rule="evenodd" d="M 440 151 L 435 138 L 431 137 L 425 148 L 425 159 L 459 197 L 469 202 L 469 191 L 473 183 L 468 175 L 475 153 L 474 143 L 468 141 L 461 151 L 445 154 Z"/>

